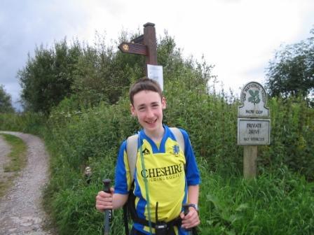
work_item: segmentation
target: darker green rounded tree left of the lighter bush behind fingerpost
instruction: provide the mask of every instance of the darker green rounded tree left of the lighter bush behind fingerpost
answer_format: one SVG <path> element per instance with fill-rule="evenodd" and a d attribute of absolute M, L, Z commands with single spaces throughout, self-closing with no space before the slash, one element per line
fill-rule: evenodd
<path fill-rule="evenodd" d="M 71 94 L 73 73 L 81 47 L 77 42 L 69 47 L 64 39 L 48 50 L 36 48 L 24 69 L 18 71 L 25 110 L 49 113 L 53 106 Z"/>

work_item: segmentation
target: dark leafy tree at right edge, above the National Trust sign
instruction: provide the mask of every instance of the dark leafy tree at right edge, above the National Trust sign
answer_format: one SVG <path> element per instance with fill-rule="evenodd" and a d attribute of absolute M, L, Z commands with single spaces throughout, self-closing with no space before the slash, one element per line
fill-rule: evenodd
<path fill-rule="evenodd" d="M 266 87 L 271 97 L 314 94 L 314 28 L 306 41 L 286 45 L 268 63 Z"/>

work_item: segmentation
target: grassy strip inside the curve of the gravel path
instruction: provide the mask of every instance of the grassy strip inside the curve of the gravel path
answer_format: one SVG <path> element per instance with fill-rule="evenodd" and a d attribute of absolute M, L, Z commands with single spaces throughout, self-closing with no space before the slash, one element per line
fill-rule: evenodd
<path fill-rule="evenodd" d="M 8 155 L 9 161 L 4 164 L 3 173 L 0 175 L 0 197 L 6 193 L 14 178 L 26 165 L 27 150 L 27 146 L 20 138 L 10 134 L 1 134 L 1 136 L 4 136 L 4 140 L 11 145 L 11 152 Z"/>

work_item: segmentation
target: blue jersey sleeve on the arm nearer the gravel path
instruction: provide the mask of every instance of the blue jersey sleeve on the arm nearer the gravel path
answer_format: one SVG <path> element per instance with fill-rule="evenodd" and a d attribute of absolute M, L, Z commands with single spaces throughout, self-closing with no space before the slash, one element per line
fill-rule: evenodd
<path fill-rule="evenodd" d="M 130 168 L 126 155 L 126 141 L 123 141 L 118 151 L 118 159 L 116 162 L 114 193 L 128 194 L 130 184 Z"/>

